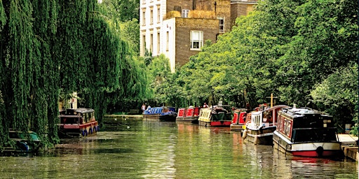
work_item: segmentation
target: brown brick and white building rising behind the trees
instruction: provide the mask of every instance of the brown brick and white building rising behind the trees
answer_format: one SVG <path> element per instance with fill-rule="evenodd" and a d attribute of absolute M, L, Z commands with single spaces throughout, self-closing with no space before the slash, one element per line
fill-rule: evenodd
<path fill-rule="evenodd" d="M 257 0 L 140 0 L 140 55 L 170 59 L 170 69 L 196 55 L 205 41 L 231 31 Z"/>

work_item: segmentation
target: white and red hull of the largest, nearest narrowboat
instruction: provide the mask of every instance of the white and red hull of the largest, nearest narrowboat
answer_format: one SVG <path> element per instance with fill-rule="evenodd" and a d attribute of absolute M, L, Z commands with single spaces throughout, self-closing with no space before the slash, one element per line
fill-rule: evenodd
<path fill-rule="evenodd" d="M 339 157 L 342 155 L 341 143 L 338 141 L 290 142 L 283 134 L 273 133 L 273 148 L 285 152 L 286 155 L 299 157 Z"/>

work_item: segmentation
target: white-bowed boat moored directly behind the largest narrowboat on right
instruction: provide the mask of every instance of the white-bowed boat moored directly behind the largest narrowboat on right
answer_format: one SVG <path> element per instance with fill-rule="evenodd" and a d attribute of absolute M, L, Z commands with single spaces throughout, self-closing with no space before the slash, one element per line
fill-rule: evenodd
<path fill-rule="evenodd" d="M 266 104 L 247 114 L 248 121 L 243 130 L 243 139 L 261 145 L 273 145 L 273 131 L 276 131 L 276 118 L 281 108 L 289 106 L 278 105 L 269 108 Z"/>

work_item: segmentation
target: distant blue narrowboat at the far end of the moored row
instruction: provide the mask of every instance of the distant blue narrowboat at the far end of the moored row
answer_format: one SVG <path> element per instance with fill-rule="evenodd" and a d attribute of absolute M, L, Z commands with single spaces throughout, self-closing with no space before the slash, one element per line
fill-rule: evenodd
<path fill-rule="evenodd" d="M 152 119 L 160 120 L 163 122 L 175 122 L 177 113 L 175 112 L 175 108 L 173 107 L 154 107 L 144 110 L 143 117 L 146 120 Z"/>

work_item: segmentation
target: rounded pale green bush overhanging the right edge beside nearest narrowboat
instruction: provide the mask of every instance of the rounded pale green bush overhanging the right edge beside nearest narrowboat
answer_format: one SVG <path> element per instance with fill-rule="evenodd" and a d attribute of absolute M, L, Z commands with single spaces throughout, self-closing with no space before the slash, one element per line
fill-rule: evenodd
<path fill-rule="evenodd" d="M 313 103 L 327 113 L 344 131 L 345 124 L 358 123 L 358 65 L 342 67 L 317 84 L 311 92 Z M 352 122 L 353 120 L 353 122 Z"/>

